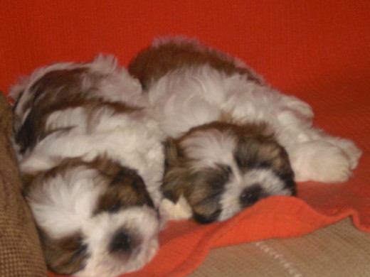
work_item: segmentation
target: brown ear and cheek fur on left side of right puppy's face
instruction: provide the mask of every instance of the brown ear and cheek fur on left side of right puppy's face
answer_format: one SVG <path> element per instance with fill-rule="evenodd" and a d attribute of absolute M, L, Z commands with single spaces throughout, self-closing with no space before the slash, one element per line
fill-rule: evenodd
<path fill-rule="evenodd" d="M 166 166 L 161 186 L 164 196 L 177 202 L 184 195 L 196 221 L 213 222 L 221 212 L 219 200 L 230 173 L 228 168 L 219 165 L 193 170 L 191 159 L 184 156 L 179 141 L 168 139 L 165 146 Z"/>

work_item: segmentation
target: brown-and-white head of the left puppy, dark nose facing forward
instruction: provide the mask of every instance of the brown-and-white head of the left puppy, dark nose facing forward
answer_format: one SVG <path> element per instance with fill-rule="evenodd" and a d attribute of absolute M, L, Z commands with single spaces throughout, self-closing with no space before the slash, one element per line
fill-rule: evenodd
<path fill-rule="evenodd" d="M 24 179 L 52 271 L 117 276 L 156 253 L 161 224 L 135 170 L 106 158 L 73 158 Z"/>

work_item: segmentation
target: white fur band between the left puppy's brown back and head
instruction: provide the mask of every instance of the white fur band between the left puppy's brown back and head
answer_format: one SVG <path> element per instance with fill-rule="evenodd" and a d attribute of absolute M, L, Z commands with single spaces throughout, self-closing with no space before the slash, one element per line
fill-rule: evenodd
<path fill-rule="evenodd" d="M 83 110 L 82 107 L 77 109 Z M 112 111 L 102 109 L 96 114 L 79 116 L 68 110 L 63 114 L 51 114 L 47 126 L 76 128 L 67 133 L 56 131 L 40 141 L 30 154 L 23 156 L 23 172 L 52 168 L 56 164 L 51 162 L 51 157 L 83 157 L 85 161 L 92 161 L 97 156 L 107 155 L 136 169 L 158 205 L 161 198 L 158 188 L 163 173 L 162 133 L 147 112 L 112 115 Z M 86 126 L 84 116 L 94 116 L 96 120 L 91 126 Z M 58 163 L 56 158 L 55 161 Z"/>

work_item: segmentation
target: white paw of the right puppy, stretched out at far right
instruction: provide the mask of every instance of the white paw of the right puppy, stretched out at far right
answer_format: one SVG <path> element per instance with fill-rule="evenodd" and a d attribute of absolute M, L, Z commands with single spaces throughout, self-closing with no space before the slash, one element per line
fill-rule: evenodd
<path fill-rule="evenodd" d="M 344 182 L 351 176 L 353 166 L 342 148 L 326 141 L 310 141 L 295 146 L 290 151 L 290 159 L 297 182 Z"/>

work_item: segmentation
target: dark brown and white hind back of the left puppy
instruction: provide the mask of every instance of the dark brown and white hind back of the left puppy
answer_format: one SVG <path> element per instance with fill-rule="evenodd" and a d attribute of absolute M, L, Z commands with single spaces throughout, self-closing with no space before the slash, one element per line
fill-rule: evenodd
<path fill-rule="evenodd" d="M 139 83 L 120 70 L 112 56 L 99 55 L 91 63 L 56 63 L 41 67 L 14 86 L 9 94 L 15 100 L 18 153 L 22 155 L 32 150 L 37 141 L 56 131 L 46 128 L 54 112 L 84 107 L 94 101 L 145 106 L 140 95 Z M 70 122 L 63 128 L 73 128 L 79 123 Z"/>

